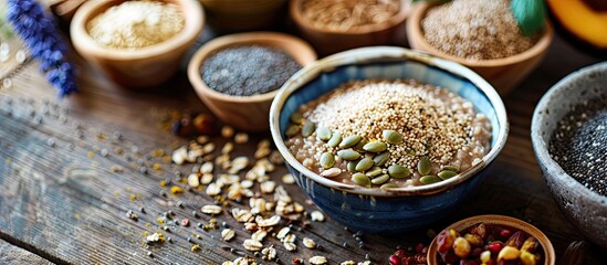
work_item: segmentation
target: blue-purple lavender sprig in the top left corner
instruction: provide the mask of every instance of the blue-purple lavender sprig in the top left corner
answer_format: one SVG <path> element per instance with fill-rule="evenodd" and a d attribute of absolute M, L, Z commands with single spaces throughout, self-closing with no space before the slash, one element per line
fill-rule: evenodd
<path fill-rule="evenodd" d="M 7 0 L 7 19 L 23 40 L 30 54 L 41 62 L 40 71 L 64 97 L 77 91 L 67 45 L 60 38 L 55 21 L 35 0 Z"/>

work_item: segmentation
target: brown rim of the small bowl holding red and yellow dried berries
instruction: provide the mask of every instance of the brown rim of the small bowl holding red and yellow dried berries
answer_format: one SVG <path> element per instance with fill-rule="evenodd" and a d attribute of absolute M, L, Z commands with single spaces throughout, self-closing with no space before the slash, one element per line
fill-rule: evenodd
<path fill-rule="evenodd" d="M 524 222 L 522 220 L 504 216 L 504 215 L 477 215 L 472 218 L 468 218 L 461 221 L 458 221 L 449 226 L 446 227 L 446 230 L 454 230 L 458 232 L 461 232 L 468 227 L 471 227 L 478 223 L 485 223 L 485 224 L 493 224 L 493 225 L 503 225 L 507 227 L 512 227 L 514 230 L 522 231 L 528 235 L 532 235 L 533 237 L 537 239 L 540 244 L 542 245 L 542 248 L 544 251 L 544 265 L 554 265 L 556 262 L 556 255 L 554 254 L 554 247 L 552 246 L 551 241 L 548 237 L 542 233 L 537 227 L 533 226 L 532 224 Z M 428 247 L 428 264 L 439 264 L 439 254 L 438 254 L 438 242 L 437 237 L 432 240 L 430 243 L 430 246 Z"/>

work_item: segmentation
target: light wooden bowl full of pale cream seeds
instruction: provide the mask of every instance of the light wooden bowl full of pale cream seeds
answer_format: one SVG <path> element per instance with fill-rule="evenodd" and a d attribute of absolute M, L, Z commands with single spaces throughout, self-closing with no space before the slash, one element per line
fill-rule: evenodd
<path fill-rule="evenodd" d="M 114 82 L 149 87 L 169 80 L 202 31 L 198 1 L 85 1 L 71 21 L 74 49 Z"/>

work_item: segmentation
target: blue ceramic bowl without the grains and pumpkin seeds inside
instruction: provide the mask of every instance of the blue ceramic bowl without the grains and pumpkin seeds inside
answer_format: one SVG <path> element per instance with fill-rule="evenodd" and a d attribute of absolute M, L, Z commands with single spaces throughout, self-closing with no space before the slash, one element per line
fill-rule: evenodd
<path fill-rule="evenodd" d="M 491 151 L 482 162 L 451 179 L 420 187 L 381 190 L 336 182 L 305 168 L 284 145 L 289 117 L 310 100 L 353 80 L 415 78 L 450 89 L 474 104 L 492 126 Z M 481 182 L 507 135 L 504 105 L 495 89 L 472 71 L 401 47 L 375 46 L 338 53 L 292 76 L 270 109 L 270 129 L 297 184 L 337 222 L 370 232 L 402 232 L 453 211 Z"/>

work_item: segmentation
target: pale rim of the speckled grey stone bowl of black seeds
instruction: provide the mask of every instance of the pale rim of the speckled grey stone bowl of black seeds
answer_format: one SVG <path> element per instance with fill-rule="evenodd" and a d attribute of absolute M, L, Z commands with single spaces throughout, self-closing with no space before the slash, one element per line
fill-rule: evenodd
<path fill-rule="evenodd" d="M 546 112 L 548 107 L 555 106 L 553 103 L 553 96 L 556 94 L 563 94 L 567 93 L 569 91 L 575 91 L 578 88 L 578 86 L 571 85 L 573 82 L 578 82 L 580 80 L 586 78 L 588 75 L 592 75 L 595 72 L 607 72 L 607 62 L 593 64 L 583 68 L 579 68 L 567 76 L 563 77 L 563 80 L 558 81 L 556 84 L 554 84 L 540 99 L 537 105 L 535 106 L 535 109 L 533 112 L 533 117 L 531 119 L 531 141 L 533 144 L 533 150 L 535 151 L 535 157 L 537 158 L 537 162 L 541 165 L 544 165 L 544 167 L 550 171 L 550 177 L 544 178 L 554 178 L 558 179 L 561 181 L 567 182 L 569 187 L 573 187 L 578 190 L 585 190 L 587 192 L 588 199 L 594 201 L 595 203 L 605 204 L 605 197 L 598 194 L 595 191 L 592 191 L 584 184 L 579 183 L 576 179 L 574 179 L 571 174 L 568 174 L 563 167 L 554 159 L 548 152 L 548 145 L 550 142 L 546 142 L 543 138 L 543 136 L 540 134 L 540 130 L 544 128 L 544 115 L 543 113 Z M 579 104 L 579 99 L 572 100 L 573 105 Z M 563 103 L 559 103 L 563 105 Z M 565 113 L 565 116 L 567 114 Z M 561 117 L 563 118 L 563 117 Z M 551 131 L 552 134 L 553 131 Z M 548 176 L 548 172 L 543 172 L 543 176 Z"/>

